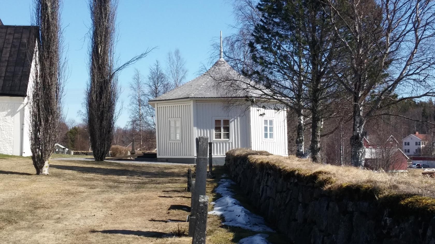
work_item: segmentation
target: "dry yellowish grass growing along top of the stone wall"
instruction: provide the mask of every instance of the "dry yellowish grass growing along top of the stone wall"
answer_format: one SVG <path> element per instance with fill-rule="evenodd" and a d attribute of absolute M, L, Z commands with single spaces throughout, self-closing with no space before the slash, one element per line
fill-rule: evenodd
<path fill-rule="evenodd" d="M 312 177 L 321 182 L 323 188 L 349 190 L 358 188 L 381 198 L 389 195 L 402 195 L 401 204 L 424 205 L 425 209 L 435 212 L 435 179 L 411 173 L 385 173 L 362 170 L 351 166 L 315 164 L 308 159 L 295 156 L 282 157 L 268 152 L 254 152 L 249 149 L 234 149 L 227 153 L 238 157 L 248 157 L 253 164 L 276 168 L 286 174 Z M 416 196 L 413 196 L 416 195 Z M 409 201 L 413 199 L 413 201 Z"/>

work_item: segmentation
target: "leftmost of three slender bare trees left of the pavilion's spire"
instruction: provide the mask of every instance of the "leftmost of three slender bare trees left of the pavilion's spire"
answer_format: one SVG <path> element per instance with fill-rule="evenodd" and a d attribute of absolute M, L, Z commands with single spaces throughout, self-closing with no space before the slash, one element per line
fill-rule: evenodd
<path fill-rule="evenodd" d="M 139 132 L 139 139 L 141 143 L 141 150 L 143 150 L 143 141 L 142 134 L 144 129 L 144 107 L 146 106 L 146 97 L 145 97 L 145 84 L 144 79 L 138 69 L 134 69 L 134 75 L 129 83 L 130 86 L 130 120 L 132 122 L 132 127 L 137 129 Z"/>

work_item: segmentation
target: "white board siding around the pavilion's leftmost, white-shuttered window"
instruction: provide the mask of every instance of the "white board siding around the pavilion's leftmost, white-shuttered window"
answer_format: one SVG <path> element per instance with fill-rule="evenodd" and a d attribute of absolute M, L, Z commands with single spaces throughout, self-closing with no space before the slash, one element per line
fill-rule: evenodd
<path fill-rule="evenodd" d="M 192 119 L 191 102 L 157 103 L 157 155 L 158 156 L 193 156 L 192 155 Z M 169 119 L 181 118 L 181 142 L 169 141 Z"/>

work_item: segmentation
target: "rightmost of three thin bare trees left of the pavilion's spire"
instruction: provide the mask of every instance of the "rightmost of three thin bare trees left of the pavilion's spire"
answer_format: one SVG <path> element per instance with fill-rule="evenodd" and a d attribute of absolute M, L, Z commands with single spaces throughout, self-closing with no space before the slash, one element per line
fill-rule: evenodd
<path fill-rule="evenodd" d="M 171 89 L 183 85 L 187 74 L 185 66 L 186 60 L 181 56 L 178 48 L 174 52 L 167 53 L 167 77 L 171 84 Z"/>

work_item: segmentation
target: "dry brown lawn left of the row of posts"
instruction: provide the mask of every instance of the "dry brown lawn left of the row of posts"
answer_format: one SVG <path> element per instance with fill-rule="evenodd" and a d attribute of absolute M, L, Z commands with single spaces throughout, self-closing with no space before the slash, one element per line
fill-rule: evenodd
<path fill-rule="evenodd" d="M 0 157 L 1 244 L 190 244 L 162 237 L 187 229 L 187 166 L 51 161 L 34 175 L 29 158 Z"/>

